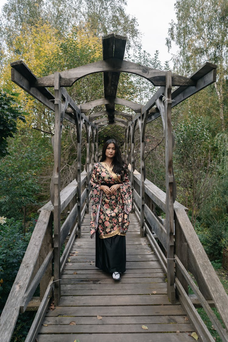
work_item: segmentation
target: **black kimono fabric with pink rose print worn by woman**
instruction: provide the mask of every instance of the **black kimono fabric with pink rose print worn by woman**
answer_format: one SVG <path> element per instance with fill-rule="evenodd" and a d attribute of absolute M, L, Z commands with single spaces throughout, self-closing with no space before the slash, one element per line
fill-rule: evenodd
<path fill-rule="evenodd" d="M 126 233 L 129 227 L 129 213 L 131 212 L 131 185 L 128 175 L 124 172 L 117 174 L 121 179 L 120 189 L 116 195 L 106 195 L 100 191 L 101 183 L 117 184 L 118 182 L 106 170 L 102 163 L 96 163 L 91 178 L 92 214 L 90 222 L 91 238 L 98 229 L 99 234 L 109 234 L 120 228 Z"/>

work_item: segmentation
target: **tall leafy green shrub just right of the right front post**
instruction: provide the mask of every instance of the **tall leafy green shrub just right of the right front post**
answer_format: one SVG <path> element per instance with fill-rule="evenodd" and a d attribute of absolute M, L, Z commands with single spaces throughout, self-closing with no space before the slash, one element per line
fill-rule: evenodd
<path fill-rule="evenodd" d="M 212 136 L 203 117 L 183 119 L 175 128 L 174 170 L 178 192 L 185 206 L 192 209 L 191 222 L 195 225 L 199 209 L 211 196 L 213 161 Z"/>

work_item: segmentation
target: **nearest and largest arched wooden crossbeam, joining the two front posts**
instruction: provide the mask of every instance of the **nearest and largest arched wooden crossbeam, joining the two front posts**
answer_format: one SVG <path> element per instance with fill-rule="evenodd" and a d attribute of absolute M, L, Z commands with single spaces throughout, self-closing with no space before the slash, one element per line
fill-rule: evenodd
<path fill-rule="evenodd" d="M 105 61 L 98 61 L 86 64 L 77 68 L 61 71 L 61 87 L 71 87 L 73 83 L 87 75 L 104 73 L 105 71 L 131 73 L 142 76 L 154 86 L 165 86 L 165 71 L 149 68 L 145 65 L 121 61 L 119 58 L 108 58 Z M 173 86 L 195 86 L 196 82 L 188 77 L 172 74 Z M 44 76 L 35 81 L 35 87 L 53 87 L 54 74 Z"/>

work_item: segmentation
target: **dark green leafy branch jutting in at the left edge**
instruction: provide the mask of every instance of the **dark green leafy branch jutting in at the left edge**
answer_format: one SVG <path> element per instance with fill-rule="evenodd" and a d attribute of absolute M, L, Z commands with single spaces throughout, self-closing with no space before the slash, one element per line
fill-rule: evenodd
<path fill-rule="evenodd" d="M 21 110 L 16 108 L 16 102 L 11 94 L 8 96 L 5 92 L 0 92 L 0 157 L 4 157 L 8 152 L 8 137 L 13 137 L 17 131 L 16 120 L 22 120 L 25 122 L 25 117 Z M 18 105 L 17 105 L 18 106 Z"/>

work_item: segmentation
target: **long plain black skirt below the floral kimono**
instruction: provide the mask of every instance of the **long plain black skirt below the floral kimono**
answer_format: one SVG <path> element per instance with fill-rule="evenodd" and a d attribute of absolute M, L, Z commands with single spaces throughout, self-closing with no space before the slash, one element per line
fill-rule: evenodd
<path fill-rule="evenodd" d="M 96 267 L 104 272 L 123 273 L 126 271 L 126 239 L 123 235 L 114 235 L 100 239 L 96 231 Z"/>

